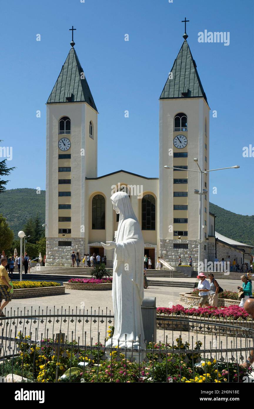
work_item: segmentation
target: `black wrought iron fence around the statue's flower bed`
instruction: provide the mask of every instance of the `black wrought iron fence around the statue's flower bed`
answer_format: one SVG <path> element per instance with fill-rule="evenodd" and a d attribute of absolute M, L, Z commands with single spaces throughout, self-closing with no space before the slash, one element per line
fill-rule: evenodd
<path fill-rule="evenodd" d="M 2 382 L 7 375 L 21 382 L 246 382 L 254 329 L 252 322 L 238 324 L 161 315 L 157 334 L 135 350 L 105 347 L 114 332 L 108 310 L 10 310 L 0 321 L 0 376 Z"/>

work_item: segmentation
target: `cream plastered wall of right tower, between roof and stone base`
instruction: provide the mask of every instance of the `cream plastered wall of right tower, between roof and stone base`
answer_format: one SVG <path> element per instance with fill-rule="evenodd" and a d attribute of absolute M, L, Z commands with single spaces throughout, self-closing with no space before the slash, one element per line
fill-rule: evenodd
<path fill-rule="evenodd" d="M 178 112 L 187 115 L 187 132 L 174 132 L 174 117 Z M 205 117 L 207 118 L 207 137 L 205 137 Z M 160 233 L 161 239 L 173 239 L 173 231 L 169 229 L 173 225 L 174 217 L 179 217 L 179 211 L 173 210 L 174 204 L 188 205 L 188 225 L 174 225 L 174 229 L 188 230 L 188 239 L 198 238 L 198 200 L 194 189 L 199 189 L 198 173 L 189 171 L 173 171 L 164 166 L 187 165 L 188 169 L 198 170 L 194 163 L 194 157 L 198 158 L 201 169 L 209 166 L 209 107 L 203 98 L 183 98 L 160 100 L 160 126 L 159 126 L 159 155 L 160 155 Z M 176 135 L 185 135 L 188 144 L 183 149 L 174 147 L 173 139 Z M 207 151 L 205 155 L 205 141 Z M 171 150 L 171 151 L 170 151 Z M 172 152 L 188 152 L 187 158 L 174 158 Z M 207 156 L 207 162 L 205 162 Z M 187 184 L 174 184 L 174 178 L 187 178 Z M 204 180 L 205 182 L 205 180 Z M 208 180 L 207 180 L 208 183 Z M 203 184 L 205 188 L 205 184 Z M 209 186 L 207 184 L 207 189 Z M 174 191 L 188 191 L 187 197 L 174 197 Z M 209 214 L 209 194 L 207 200 L 203 196 L 203 224 L 205 220 L 204 208 L 207 207 Z M 183 213 L 186 214 L 186 213 Z M 176 216 L 177 215 L 177 216 Z M 183 216 L 186 217 L 186 216 Z M 207 231 L 203 230 L 203 233 Z"/>

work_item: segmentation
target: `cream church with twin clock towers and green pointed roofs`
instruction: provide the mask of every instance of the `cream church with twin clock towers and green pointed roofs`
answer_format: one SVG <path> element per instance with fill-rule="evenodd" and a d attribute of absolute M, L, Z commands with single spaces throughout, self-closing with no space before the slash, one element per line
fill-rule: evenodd
<path fill-rule="evenodd" d="M 121 190 L 130 196 L 152 267 L 158 256 L 176 266 L 179 254 L 183 264 L 191 255 L 197 267 L 199 195 L 194 189 L 200 176 L 189 170 L 198 170 L 194 158 L 201 169 L 209 169 L 210 108 L 183 37 L 159 99 L 159 178 L 124 170 L 97 175 L 98 110 L 71 43 L 47 101 L 46 265 L 69 267 L 74 250 L 81 258 L 105 255 L 111 267 L 114 251 L 100 243 L 114 240 L 118 215 L 110 197 Z M 203 180 L 201 248 L 202 260 L 214 261 L 218 242 L 215 216 L 209 213 L 208 175 Z"/>

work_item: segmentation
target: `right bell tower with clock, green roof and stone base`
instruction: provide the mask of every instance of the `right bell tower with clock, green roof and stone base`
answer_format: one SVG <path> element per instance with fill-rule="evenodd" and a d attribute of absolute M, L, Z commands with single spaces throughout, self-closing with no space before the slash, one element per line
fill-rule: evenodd
<path fill-rule="evenodd" d="M 160 254 L 172 266 L 178 254 L 185 264 L 189 255 L 198 263 L 199 189 L 198 158 L 201 169 L 209 168 L 209 106 L 198 76 L 186 34 L 169 77 L 160 95 L 159 163 L 160 163 Z M 170 168 L 165 169 L 165 165 Z M 203 189 L 202 258 L 207 258 L 209 225 L 209 178 L 205 174 Z"/>

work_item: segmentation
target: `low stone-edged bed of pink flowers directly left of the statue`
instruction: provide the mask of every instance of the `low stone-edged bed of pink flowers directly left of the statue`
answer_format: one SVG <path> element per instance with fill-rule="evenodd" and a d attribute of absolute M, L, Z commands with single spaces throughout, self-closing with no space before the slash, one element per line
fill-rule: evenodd
<path fill-rule="evenodd" d="M 63 283 L 68 290 L 111 290 L 112 277 L 105 279 L 70 279 Z"/>

